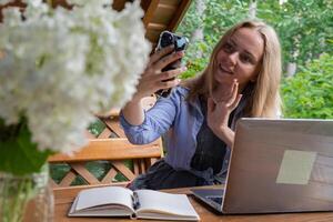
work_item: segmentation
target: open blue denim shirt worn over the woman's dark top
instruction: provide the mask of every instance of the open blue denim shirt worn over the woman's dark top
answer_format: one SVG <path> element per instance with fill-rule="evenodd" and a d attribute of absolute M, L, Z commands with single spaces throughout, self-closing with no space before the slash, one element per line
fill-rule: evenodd
<path fill-rule="evenodd" d="M 190 167 L 196 149 L 196 134 L 204 117 L 200 109 L 199 98 L 194 102 L 186 101 L 189 89 L 184 87 L 174 88 L 168 98 L 160 98 L 154 107 L 145 112 L 141 125 L 128 123 L 122 113 L 120 122 L 129 141 L 134 144 L 150 143 L 165 134 L 165 161 L 168 164 L 175 170 L 188 170 L 208 181 L 213 181 L 213 169 L 196 171 Z M 234 124 L 233 121 L 233 129 Z M 226 148 L 222 170 L 219 174 L 226 172 L 229 159 L 230 148 Z"/>

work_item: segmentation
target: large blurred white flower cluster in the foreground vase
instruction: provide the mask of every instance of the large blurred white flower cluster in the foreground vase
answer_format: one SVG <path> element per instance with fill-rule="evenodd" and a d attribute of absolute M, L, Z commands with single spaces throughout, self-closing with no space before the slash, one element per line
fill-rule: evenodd
<path fill-rule="evenodd" d="M 7 9 L 0 24 L 0 118 L 23 114 L 40 150 L 67 153 L 85 144 L 93 113 L 132 97 L 151 50 L 138 1 L 121 12 L 105 0 L 70 2 L 78 7 L 27 0 L 24 21 Z"/>

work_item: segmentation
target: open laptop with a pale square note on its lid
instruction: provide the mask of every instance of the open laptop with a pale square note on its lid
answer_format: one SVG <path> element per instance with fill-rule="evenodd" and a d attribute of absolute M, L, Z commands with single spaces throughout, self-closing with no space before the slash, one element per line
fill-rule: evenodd
<path fill-rule="evenodd" d="M 333 120 L 238 122 L 225 189 L 192 189 L 223 214 L 333 211 Z"/>

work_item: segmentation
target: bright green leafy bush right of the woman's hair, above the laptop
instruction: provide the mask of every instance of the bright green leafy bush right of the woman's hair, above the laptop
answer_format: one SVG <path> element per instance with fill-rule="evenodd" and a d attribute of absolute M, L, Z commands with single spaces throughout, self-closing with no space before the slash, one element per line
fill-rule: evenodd
<path fill-rule="evenodd" d="M 333 56 L 312 60 L 282 83 L 285 118 L 333 119 Z"/>

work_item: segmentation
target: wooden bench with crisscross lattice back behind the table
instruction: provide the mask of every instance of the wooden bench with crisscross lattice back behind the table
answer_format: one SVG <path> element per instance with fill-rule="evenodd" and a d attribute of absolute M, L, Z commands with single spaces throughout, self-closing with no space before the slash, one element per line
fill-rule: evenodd
<path fill-rule="evenodd" d="M 154 98 L 147 98 L 145 109 L 150 109 L 154 101 Z M 98 137 L 87 132 L 90 141 L 87 147 L 72 157 L 56 154 L 49 158 L 50 164 L 60 163 L 70 168 L 60 182 L 51 180 L 54 188 L 70 186 L 78 176 L 84 180 L 85 184 L 91 185 L 127 185 L 163 157 L 161 139 L 144 145 L 134 145 L 128 141 L 120 127 L 118 110 L 112 110 L 107 117 L 99 117 L 99 119 L 105 124 L 105 129 Z M 110 165 L 102 179 L 98 179 L 87 169 L 87 163 L 91 161 L 102 161 Z M 119 174 L 125 181 L 115 180 Z"/>

